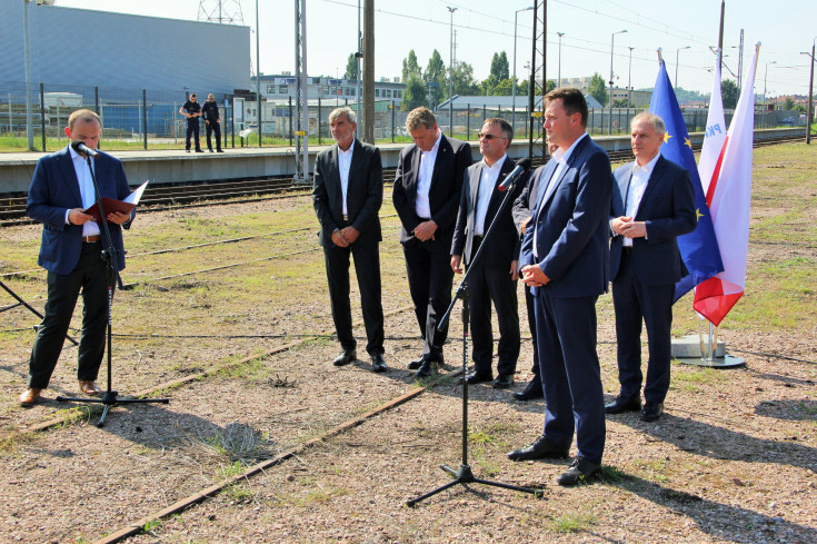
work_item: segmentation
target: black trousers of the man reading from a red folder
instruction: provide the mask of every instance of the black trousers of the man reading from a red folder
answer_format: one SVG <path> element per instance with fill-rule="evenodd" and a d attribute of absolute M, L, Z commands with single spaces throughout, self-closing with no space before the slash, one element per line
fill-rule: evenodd
<path fill-rule="evenodd" d="M 29 387 L 44 389 L 60 357 L 73 308 L 82 291 L 82 336 L 79 343 L 78 379 L 97 379 L 104 354 L 108 324 L 107 265 L 102 244 L 82 244 L 77 267 L 67 275 L 48 273 L 46 317 L 37 329 L 29 360 Z"/>

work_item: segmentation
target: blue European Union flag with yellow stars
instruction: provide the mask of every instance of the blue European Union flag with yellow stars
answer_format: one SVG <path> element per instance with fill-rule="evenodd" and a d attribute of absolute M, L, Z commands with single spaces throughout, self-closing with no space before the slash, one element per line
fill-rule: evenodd
<path fill-rule="evenodd" d="M 675 300 L 678 300 L 696 285 L 723 271 L 724 264 L 720 260 L 718 239 L 715 236 L 713 218 L 709 215 L 706 195 L 704 195 L 704 187 L 698 176 L 698 166 L 695 164 L 693 142 L 689 140 L 687 125 L 684 122 L 678 100 L 675 98 L 672 83 L 669 82 L 664 60 L 661 60 L 658 69 L 658 79 L 652 90 L 649 111 L 659 116 L 667 125 L 667 133 L 664 135 L 664 144 L 661 145 L 661 155 L 665 159 L 689 170 L 689 178 L 695 188 L 698 226 L 691 233 L 678 237 L 678 248 L 684 264 L 689 270 L 688 276 L 675 284 Z"/>

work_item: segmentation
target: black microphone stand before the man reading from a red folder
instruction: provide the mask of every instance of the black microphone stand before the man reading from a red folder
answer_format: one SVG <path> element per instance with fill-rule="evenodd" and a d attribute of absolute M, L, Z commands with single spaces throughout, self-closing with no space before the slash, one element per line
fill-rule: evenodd
<path fill-rule="evenodd" d="M 108 280 L 108 390 L 101 398 L 84 398 L 84 397 L 57 397 L 60 403 L 72 400 L 78 403 L 99 403 L 104 405 L 102 411 L 102 417 L 97 423 L 98 427 L 104 426 L 104 418 L 108 416 L 108 409 L 117 404 L 132 404 L 132 403 L 161 403 L 168 404 L 169 398 L 119 398 L 118 393 L 112 389 L 112 348 L 113 348 L 113 332 L 112 332 L 112 309 L 113 309 L 113 287 L 119 284 L 119 288 L 122 288 L 122 278 L 119 276 L 119 270 L 116 268 L 114 263 L 119 251 L 113 246 L 113 238 L 111 238 L 111 231 L 108 228 L 108 219 L 106 218 L 104 208 L 102 207 L 102 195 L 99 192 L 99 185 L 97 184 L 97 177 L 93 174 L 91 166 L 91 157 L 86 155 L 86 162 L 88 164 L 88 170 L 91 172 L 91 181 L 93 181 L 93 190 L 97 197 L 97 206 L 99 206 L 99 215 L 101 221 L 102 240 L 107 246 L 107 249 L 102 250 L 102 260 L 106 261 L 107 280 Z"/>

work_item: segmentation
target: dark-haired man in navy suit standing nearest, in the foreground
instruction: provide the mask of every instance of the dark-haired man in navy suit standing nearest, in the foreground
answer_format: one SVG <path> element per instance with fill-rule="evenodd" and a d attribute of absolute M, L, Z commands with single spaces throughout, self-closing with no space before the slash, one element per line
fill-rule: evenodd
<path fill-rule="evenodd" d="M 581 91 L 556 89 L 545 98 L 548 141 L 564 155 L 534 174 L 542 186 L 520 258 L 522 280 L 535 288 L 545 431 L 508 457 L 567 457 L 575 432 L 578 454 L 558 478 L 575 485 L 599 471 L 605 448 L 596 300 L 608 281 L 612 172 L 607 154 L 585 130 Z"/>

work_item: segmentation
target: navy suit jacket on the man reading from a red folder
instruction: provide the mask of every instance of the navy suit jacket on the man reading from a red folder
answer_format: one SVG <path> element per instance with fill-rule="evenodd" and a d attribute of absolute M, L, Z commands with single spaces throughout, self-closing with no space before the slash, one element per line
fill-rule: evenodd
<path fill-rule="evenodd" d="M 82 225 L 67 225 L 66 210 L 83 208 L 77 172 L 71 154 L 66 147 L 41 158 L 31 179 L 26 214 L 42 222 L 42 244 L 38 264 L 54 274 L 69 274 L 77 266 L 82 250 Z M 93 161 L 99 192 L 117 200 L 130 194 L 122 162 L 116 157 L 99 151 Z M 131 215 L 131 219 L 132 219 Z M 124 225 L 128 228 L 130 222 Z M 119 251 L 117 266 L 124 268 L 122 228 L 109 222 L 113 247 Z M 100 228 L 101 230 L 101 228 Z M 104 240 L 103 240 L 104 241 Z"/>

